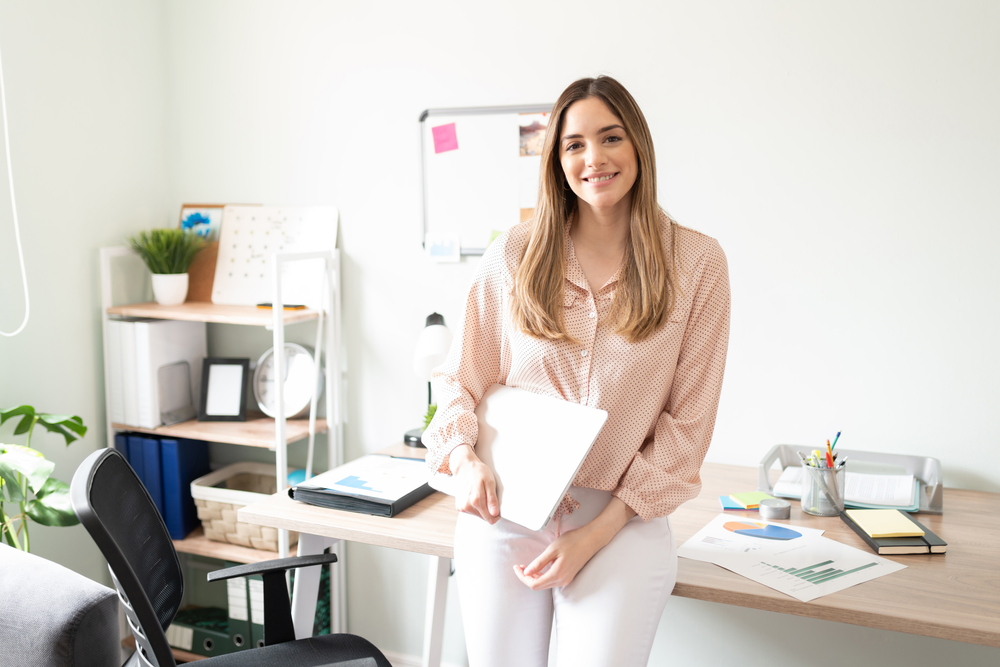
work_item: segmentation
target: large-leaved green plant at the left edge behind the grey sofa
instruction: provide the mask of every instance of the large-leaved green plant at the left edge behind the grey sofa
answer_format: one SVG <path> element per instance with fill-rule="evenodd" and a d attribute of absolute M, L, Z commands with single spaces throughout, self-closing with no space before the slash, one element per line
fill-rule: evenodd
<path fill-rule="evenodd" d="M 40 413 L 30 405 L 0 410 L 0 425 L 18 417 L 14 435 L 27 434 L 27 442 L 0 443 L 0 539 L 15 549 L 29 551 L 28 519 L 43 526 L 79 523 L 69 502 L 69 485 L 50 477 L 55 464 L 31 448 L 35 426 L 41 424 L 49 433 L 63 436 L 67 447 L 86 435 L 87 427 L 79 417 Z M 8 514 L 5 503 L 16 504 L 17 513 Z"/>

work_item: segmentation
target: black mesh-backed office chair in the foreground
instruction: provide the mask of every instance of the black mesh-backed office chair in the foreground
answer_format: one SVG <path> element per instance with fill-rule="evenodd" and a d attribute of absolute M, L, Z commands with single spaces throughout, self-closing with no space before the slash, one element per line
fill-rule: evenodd
<path fill-rule="evenodd" d="M 101 449 L 80 464 L 70 485 L 73 511 L 101 553 L 135 636 L 126 667 L 175 667 L 164 630 L 177 613 L 184 579 L 177 552 L 152 498 L 122 455 Z M 199 662 L 205 667 L 391 667 L 356 635 L 295 639 L 285 571 L 336 562 L 336 554 L 282 558 L 212 572 L 209 581 L 259 574 L 264 580 L 264 646 Z"/>

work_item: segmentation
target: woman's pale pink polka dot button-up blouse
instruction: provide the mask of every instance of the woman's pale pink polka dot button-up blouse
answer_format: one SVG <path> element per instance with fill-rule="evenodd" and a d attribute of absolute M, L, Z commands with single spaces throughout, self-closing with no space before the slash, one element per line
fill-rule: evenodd
<path fill-rule="evenodd" d="M 428 465 L 450 472 L 451 451 L 475 445 L 479 400 L 504 384 L 606 410 L 573 484 L 611 491 L 644 521 L 666 516 L 701 488 L 729 343 L 726 256 L 715 239 L 677 228 L 681 293 L 668 322 L 629 343 L 606 324 L 618 274 L 592 292 L 567 226 L 563 306 L 566 328 L 580 342 L 540 340 L 521 332 L 509 310 L 530 224 L 500 236 L 477 267 L 463 331 L 432 379 L 438 410 L 423 435 Z M 669 247 L 665 216 L 661 229 Z"/>

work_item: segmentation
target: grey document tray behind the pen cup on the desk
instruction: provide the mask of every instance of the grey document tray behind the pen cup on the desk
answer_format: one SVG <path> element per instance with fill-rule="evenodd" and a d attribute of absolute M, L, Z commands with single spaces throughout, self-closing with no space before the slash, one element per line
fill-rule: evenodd
<path fill-rule="evenodd" d="M 757 490 L 771 493 L 771 478 L 768 471 L 775 461 L 781 463 L 781 469 L 788 466 L 800 466 L 802 460 L 796 452 L 806 456 L 815 447 L 806 445 L 775 445 L 764 456 L 757 469 Z M 851 470 L 865 473 L 906 474 L 913 475 L 919 482 L 920 508 L 918 512 L 926 514 L 944 514 L 944 484 L 941 475 L 941 462 L 930 456 L 910 456 L 908 454 L 880 454 L 878 452 L 862 452 L 857 449 L 837 449 L 840 456 L 849 456 Z"/>

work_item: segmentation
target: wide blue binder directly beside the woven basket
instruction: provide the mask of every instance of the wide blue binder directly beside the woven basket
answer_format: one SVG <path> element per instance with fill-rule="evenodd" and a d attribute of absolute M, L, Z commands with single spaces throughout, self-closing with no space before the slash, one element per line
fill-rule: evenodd
<path fill-rule="evenodd" d="M 191 482 L 209 473 L 208 443 L 201 440 L 160 440 L 163 474 L 163 521 L 170 537 L 183 540 L 198 525 Z"/>

